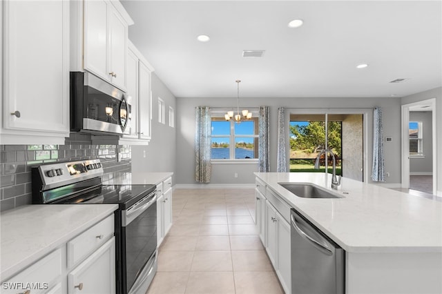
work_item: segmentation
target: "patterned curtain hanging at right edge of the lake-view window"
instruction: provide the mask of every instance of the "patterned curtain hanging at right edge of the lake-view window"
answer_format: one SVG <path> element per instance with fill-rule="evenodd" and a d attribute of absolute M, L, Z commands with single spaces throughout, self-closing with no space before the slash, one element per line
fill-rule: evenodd
<path fill-rule="evenodd" d="M 260 106 L 259 115 L 259 171 L 260 173 L 267 173 L 270 171 L 269 166 L 269 106 Z"/>

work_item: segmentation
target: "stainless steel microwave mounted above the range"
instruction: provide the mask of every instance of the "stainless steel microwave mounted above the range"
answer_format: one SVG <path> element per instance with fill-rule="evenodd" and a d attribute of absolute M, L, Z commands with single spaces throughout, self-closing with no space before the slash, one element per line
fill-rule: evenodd
<path fill-rule="evenodd" d="M 70 72 L 70 130 L 131 133 L 131 96 L 89 72 Z"/>

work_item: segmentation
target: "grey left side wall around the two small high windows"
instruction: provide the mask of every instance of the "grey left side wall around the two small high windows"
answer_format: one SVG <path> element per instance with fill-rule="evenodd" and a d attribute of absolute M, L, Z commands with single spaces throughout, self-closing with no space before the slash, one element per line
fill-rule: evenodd
<path fill-rule="evenodd" d="M 166 124 L 158 122 L 158 97 L 166 104 Z M 152 139 L 148 146 L 132 146 L 132 172 L 172 172 L 175 177 L 176 99 L 162 81 L 152 73 Z M 175 110 L 175 128 L 169 126 L 169 106 Z M 146 157 L 144 157 L 144 153 Z"/>

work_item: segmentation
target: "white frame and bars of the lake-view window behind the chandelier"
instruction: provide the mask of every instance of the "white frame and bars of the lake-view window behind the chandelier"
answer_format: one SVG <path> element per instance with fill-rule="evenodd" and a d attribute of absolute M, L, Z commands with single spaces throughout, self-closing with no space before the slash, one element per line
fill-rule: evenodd
<path fill-rule="evenodd" d="M 226 121 L 224 118 L 224 113 L 226 113 L 228 110 L 225 111 L 219 111 L 219 112 L 211 112 L 211 121 Z M 257 112 L 256 112 L 257 113 Z M 250 159 L 236 159 L 235 158 L 235 146 L 236 146 L 236 138 L 238 137 L 246 137 L 246 138 L 254 138 L 253 142 L 253 150 L 254 152 L 258 153 L 258 144 L 259 144 L 259 120 L 258 117 L 252 117 L 249 120 L 253 120 L 255 122 L 254 124 L 254 133 L 253 135 L 235 135 L 235 119 L 231 119 L 229 121 L 230 123 L 230 134 L 229 135 L 212 135 L 212 138 L 227 138 L 229 141 L 229 157 L 228 159 L 211 159 L 212 164 L 238 164 L 238 163 L 244 163 L 244 164 L 257 164 L 259 159 L 258 158 L 250 158 Z M 247 121 L 247 120 L 246 120 Z M 255 143 L 256 142 L 256 143 Z"/>

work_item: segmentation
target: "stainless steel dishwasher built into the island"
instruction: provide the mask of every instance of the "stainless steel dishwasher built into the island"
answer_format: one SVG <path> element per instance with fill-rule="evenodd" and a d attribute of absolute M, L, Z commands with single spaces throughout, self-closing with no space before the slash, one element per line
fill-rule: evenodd
<path fill-rule="evenodd" d="M 345 293 L 345 251 L 291 210 L 291 293 Z"/>

